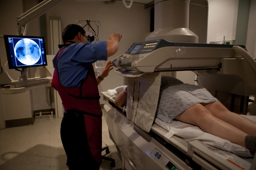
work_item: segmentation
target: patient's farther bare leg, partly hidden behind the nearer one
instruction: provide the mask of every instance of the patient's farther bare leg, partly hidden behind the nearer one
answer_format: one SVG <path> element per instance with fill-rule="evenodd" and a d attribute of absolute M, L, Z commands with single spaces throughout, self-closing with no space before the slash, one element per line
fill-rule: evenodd
<path fill-rule="evenodd" d="M 221 119 L 234 127 L 237 127 L 248 135 L 256 136 L 256 123 L 252 120 L 231 112 L 220 102 L 201 104 L 205 106 L 205 108 L 207 108 L 207 110 L 209 110 L 216 118 Z"/>

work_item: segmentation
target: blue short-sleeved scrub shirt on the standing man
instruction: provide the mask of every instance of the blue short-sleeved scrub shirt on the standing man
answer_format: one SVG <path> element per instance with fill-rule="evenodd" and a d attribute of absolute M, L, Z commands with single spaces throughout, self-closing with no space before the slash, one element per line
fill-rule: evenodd
<path fill-rule="evenodd" d="M 106 44 L 106 41 L 99 41 L 97 43 L 73 43 L 66 47 L 58 59 L 61 84 L 68 88 L 80 86 L 88 74 L 90 64 L 97 60 L 107 60 Z M 58 53 L 59 51 L 53 58 L 54 68 L 56 68 Z"/>

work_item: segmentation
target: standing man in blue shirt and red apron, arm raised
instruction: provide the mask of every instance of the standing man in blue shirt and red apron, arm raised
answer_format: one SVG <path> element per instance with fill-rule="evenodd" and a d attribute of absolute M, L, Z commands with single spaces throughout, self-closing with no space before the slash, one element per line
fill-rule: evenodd
<path fill-rule="evenodd" d="M 82 27 L 71 24 L 62 33 L 64 47 L 53 58 L 52 86 L 65 109 L 61 138 L 69 170 L 99 170 L 102 162 L 102 110 L 97 85 L 113 69 L 111 61 L 95 77 L 93 63 L 107 60 L 119 48 L 121 34 L 88 43 Z"/>

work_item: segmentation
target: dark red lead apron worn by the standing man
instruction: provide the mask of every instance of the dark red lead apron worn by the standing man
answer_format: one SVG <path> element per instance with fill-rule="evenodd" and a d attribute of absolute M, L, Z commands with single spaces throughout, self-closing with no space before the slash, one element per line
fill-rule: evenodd
<path fill-rule="evenodd" d="M 57 55 L 56 69 L 53 73 L 53 88 L 57 89 L 65 110 L 80 110 L 84 113 L 84 123 L 87 133 L 88 144 L 93 158 L 98 163 L 102 162 L 102 110 L 99 102 L 97 81 L 90 64 L 88 75 L 84 83 L 79 87 L 66 88 L 62 86 L 59 77 L 57 62 L 66 48 Z"/>

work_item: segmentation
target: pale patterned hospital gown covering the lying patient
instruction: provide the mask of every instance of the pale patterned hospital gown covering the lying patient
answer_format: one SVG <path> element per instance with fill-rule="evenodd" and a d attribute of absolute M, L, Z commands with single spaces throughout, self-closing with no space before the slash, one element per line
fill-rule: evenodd
<path fill-rule="evenodd" d="M 162 76 L 156 117 L 172 123 L 182 111 L 197 103 L 219 102 L 207 89 L 190 85 L 170 77 Z"/>

